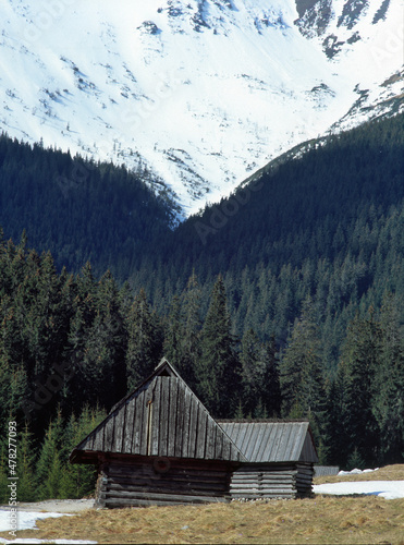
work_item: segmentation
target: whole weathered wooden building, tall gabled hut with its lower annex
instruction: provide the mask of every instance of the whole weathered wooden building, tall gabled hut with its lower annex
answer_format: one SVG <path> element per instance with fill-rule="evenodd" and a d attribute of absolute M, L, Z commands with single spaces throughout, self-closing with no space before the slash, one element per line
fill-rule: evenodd
<path fill-rule="evenodd" d="M 96 506 L 296 497 L 318 461 L 307 422 L 216 422 L 167 360 L 77 445 Z"/>

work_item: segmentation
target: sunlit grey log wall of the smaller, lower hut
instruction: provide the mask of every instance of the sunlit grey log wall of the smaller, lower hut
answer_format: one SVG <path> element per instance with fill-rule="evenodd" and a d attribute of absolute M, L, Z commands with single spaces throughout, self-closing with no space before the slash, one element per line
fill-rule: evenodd
<path fill-rule="evenodd" d="M 232 499 L 296 498 L 311 495 L 310 464 L 243 464 L 230 482 Z"/>

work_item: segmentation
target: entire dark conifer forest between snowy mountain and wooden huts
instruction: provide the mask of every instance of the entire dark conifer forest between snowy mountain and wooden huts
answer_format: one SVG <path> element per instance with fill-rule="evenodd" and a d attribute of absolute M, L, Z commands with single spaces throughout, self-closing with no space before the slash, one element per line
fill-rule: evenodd
<path fill-rule="evenodd" d="M 124 167 L 2 135 L 20 500 L 91 493 L 71 449 L 162 355 L 215 416 L 309 419 L 322 463 L 403 462 L 403 121 L 306 143 L 177 228 Z"/>

